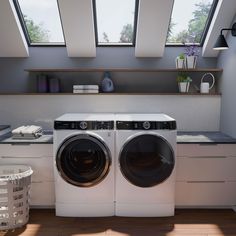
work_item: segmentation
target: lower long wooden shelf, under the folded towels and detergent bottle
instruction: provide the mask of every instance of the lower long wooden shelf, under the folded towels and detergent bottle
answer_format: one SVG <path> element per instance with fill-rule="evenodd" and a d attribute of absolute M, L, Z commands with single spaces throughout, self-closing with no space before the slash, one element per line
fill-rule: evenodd
<path fill-rule="evenodd" d="M 221 93 L 208 93 L 208 94 L 200 94 L 200 93 L 0 93 L 1 95 L 39 95 L 39 96 L 55 96 L 55 95 L 73 95 L 73 96 L 87 96 L 87 95 L 95 95 L 95 96 L 109 96 L 109 95 L 163 95 L 163 96 L 221 96 Z"/>

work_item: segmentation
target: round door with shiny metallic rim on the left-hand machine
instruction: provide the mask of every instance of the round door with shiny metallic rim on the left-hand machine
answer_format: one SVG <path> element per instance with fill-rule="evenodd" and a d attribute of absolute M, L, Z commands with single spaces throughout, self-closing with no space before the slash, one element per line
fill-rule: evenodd
<path fill-rule="evenodd" d="M 62 143 L 56 165 L 61 177 L 68 183 L 90 187 L 100 183 L 108 174 L 111 155 L 100 139 L 81 134 Z"/>

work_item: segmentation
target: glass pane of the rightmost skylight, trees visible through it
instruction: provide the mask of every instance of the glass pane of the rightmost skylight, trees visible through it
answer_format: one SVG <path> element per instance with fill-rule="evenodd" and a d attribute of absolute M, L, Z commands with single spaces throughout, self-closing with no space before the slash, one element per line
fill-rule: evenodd
<path fill-rule="evenodd" d="M 217 0 L 175 0 L 168 44 L 202 44 Z"/>

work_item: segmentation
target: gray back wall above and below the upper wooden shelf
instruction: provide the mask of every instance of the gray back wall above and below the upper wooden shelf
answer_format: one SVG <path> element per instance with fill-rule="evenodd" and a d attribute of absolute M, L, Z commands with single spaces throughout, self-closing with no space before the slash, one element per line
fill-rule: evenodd
<path fill-rule="evenodd" d="M 36 92 L 36 73 L 26 68 L 174 68 L 183 47 L 167 47 L 162 58 L 135 58 L 134 48 L 97 48 L 96 58 L 69 58 L 65 47 L 31 47 L 29 58 L 0 59 L 0 93 Z M 198 58 L 198 67 L 215 67 L 215 58 Z M 102 73 L 49 74 L 61 81 L 62 92 L 71 92 L 73 84 L 100 84 Z M 199 84 L 202 74 L 192 74 Z M 177 92 L 176 73 L 112 73 L 116 92 Z"/>

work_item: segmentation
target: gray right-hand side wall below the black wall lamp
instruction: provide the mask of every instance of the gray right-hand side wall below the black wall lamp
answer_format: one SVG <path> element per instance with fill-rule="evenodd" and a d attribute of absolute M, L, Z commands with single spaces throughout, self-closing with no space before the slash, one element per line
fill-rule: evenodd
<path fill-rule="evenodd" d="M 226 40 L 229 49 L 221 52 L 217 64 L 224 69 L 218 85 L 222 93 L 220 130 L 236 138 L 236 37 L 229 33 Z"/>

